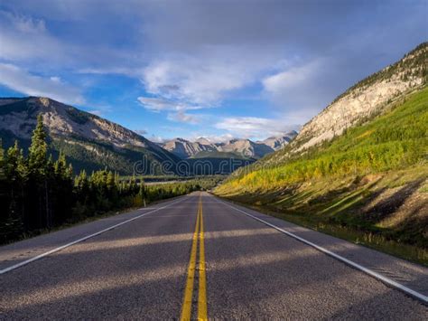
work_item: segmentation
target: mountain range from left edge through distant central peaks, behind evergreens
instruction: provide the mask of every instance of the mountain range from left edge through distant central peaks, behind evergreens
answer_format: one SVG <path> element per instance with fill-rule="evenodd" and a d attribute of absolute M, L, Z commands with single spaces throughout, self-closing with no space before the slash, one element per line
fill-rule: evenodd
<path fill-rule="evenodd" d="M 229 174 L 287 145 L 296 132 L 265 141 L 233 139 L 211 143 L 175 138 L 162 144 L 105 118 L 44 97 L 0 99 L 0 137 L 4 148 L 30 146 L 37 115 L 49 136 L 50 151 L 67 156 L 75 173 L 107 167 L 122 175 Z M 137 173 L 135 172 L 137 171 Z"/>

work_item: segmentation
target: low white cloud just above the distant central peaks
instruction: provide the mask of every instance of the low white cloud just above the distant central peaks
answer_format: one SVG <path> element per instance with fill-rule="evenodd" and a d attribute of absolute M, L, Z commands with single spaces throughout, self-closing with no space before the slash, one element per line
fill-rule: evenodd
<path fill-rule="evenodd" d="M 264 138 L 283 135 L 292 129 L 296 129 L 297 126 L 290 126 L 285 124 L 283 120 L 272 118 L 232 117 L 222 119 L 215 124 L 215 127 L 227 130 L 236 137 Z"/>

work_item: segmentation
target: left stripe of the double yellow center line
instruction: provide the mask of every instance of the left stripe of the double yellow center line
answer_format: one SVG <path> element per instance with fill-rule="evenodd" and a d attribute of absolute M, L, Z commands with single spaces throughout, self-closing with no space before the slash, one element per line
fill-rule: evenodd
<path fill-rule="evenodd" d="M 196 217 L 195 232 L 193 233 L 193 239 L 191 241 L 191 260 L 189 261 L 189 268 L 187 269 L 187 282 L 184 290 L 184 299 L 181 308 L 181 320 L 191 319 L 191 299 L 193 297 L 193 283 L 195 280 L 195 268 L 196 268 L 196 250 L 198 246 L 198 234 L 200 227 L 200 209 L 198 209 L 198 215 Z"/>

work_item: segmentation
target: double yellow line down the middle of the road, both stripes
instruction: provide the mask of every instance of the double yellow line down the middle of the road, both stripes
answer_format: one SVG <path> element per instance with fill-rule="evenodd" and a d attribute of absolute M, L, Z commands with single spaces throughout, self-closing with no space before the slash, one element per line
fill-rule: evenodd
<path fill-rule="evenodd" d="M 191 260 L 187 269 L 186 288 L 184 290 L 184 299 L 181 308 L 181 320 L 191 320 L 191 301 L 193 298 L 193 284 L 195 280 L 196 256 L 198 253 L 198 241 L 200 245 L 199 257 L 199 288 L 198 288 L 198 320 L 208 320 L 207 312 L 207 279 L 205 274 L 205 246 L 203 236 L 203 211 L 202 199 L 198 205 L 198 215 L 196 217 L 196 226 L 191 241 Z"/>

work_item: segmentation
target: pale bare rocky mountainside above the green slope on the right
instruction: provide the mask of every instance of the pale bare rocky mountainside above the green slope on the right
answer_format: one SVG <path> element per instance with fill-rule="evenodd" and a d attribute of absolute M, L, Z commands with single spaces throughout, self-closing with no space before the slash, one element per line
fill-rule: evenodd
<path fill-rule="evenodd" d="M 377 71 L 334 99 L 320 114 L 302 127 L 292 146 L 302 150 L 339 136 L 385 110 L 405 93 L 420 88 L 427 80 L 428 42 L 405 57 Z"/>

